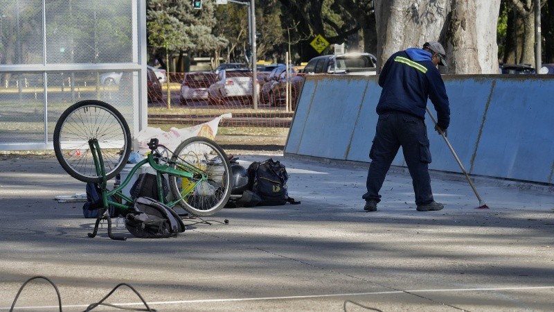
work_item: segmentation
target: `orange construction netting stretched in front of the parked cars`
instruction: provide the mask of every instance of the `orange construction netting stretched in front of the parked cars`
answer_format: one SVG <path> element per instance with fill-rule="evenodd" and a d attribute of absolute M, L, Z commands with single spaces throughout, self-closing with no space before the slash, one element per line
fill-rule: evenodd
<path fill-rule="evenodd" d="M 148 121 L 194 125 L 231 112 L 233 118 L 223 119 L 222 126 L 288 128 L 303 86 L 303 73 L 270 75 L 261 71 L 257 76 L 256 87 L 252 73 L 244 70 L 170 73 L 168 81 L 149 80 L 149 107 L 171 110 L 151 111 Z M 253 89 L 258 96 L 256 105 Z"/>

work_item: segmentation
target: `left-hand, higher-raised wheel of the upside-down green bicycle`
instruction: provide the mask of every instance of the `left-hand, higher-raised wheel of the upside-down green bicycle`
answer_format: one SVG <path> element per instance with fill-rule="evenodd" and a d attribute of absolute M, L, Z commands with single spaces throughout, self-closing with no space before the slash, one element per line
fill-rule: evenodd
<path fill-rule="evenodd" d="M 89 141 L 98 140 L 106 180 L 115 177 L 131 153 L 129 125 L 114 107 L 87 100 L 71 105 L 54 129 L 54 152 L 64 170 L 82 182 L 101 182 L 96 173 Z"/>

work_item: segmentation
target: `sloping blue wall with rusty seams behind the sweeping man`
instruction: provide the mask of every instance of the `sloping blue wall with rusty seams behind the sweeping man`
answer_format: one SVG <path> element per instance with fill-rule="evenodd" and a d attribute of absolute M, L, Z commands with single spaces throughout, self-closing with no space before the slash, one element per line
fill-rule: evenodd
<path fill-rule="evenodd" d="M 450 100 L 448 139 L 474 175 L 553 183 L 554 77 L 443 76 Z M 285 155 L 370 162 L 381 87 L 377 76 L 307 76 Z M 427 103 L 436 114 L 432 103 Z M 461 172 L 427 116 L 433 162 Z M 405 166 L 402 150 L 394 165 Z"/>

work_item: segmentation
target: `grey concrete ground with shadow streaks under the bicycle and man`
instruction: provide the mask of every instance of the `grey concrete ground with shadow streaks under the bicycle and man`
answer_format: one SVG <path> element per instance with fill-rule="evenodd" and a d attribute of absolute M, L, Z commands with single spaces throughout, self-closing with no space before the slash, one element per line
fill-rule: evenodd
<path fill-rule="evenodd" d="M 479 178 L 490 209 L 475 209 L 463 175 L 433 173 L 446 207 L 418 212 L 409 174 L 394 168 L 368 213 L 367 165 L 273 158 L 301 205 L 223 209 L 173 239 L 116 229 L 129 239 L 112 241 L 105 227 L 87 237 L 82 202 L 53 200 L 84 193 L 55 157 L 0 156 L 0 311 L 37 276 L 63 311 L 120 283 L 107 303 L 140 309 L 140 295 L 157 311 L 554 311 L 552 187 Z M 15 311 L 60 311 L 55 288 L 30 281 Z"/>

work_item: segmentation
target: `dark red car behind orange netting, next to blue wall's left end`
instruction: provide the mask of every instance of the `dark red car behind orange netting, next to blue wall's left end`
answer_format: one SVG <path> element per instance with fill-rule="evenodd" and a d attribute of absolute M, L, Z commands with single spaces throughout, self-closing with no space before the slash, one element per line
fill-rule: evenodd
<path fill-rule="evenodd" d="M 304 84 L 304 74 L 298 73 L 293 69 L 290 70 L 288 83 L 290 85 L 289 98 L 292 103 L 292 110 L 296 110 L 296 102 Z M 269 90 L 269 105 L 285 106 L 287 104 L 287 71 L 280 74 L 276 82 Z"/>

